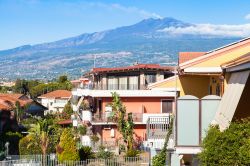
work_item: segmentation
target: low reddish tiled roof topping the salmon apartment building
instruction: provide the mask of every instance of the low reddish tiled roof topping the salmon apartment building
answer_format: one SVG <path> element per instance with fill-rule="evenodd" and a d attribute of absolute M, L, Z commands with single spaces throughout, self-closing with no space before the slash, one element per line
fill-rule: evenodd
<path fill-rule="evenodd" d="M 134 70 L 162 70 L 162 71 L 174 71 L 172 66 L 160 66 L 159 64 L 136 64 L 126 67 L 114 67 L 114 68 L 93 68 L 90 73 L 106 73 L 114 71 L 134 71 Z"/>

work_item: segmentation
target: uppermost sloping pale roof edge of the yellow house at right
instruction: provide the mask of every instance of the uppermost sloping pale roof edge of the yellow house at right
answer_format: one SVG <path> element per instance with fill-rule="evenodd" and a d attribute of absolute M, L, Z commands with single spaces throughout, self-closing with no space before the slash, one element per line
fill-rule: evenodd
<path fill-rule="evenodd" d="M 223 54 L 223 53 L 225 53 L 227 51 L 230 51 L 232 49 L 247 45 L 249 43 L 250 43 L 250 38 L 245 38 L 245 39 L 239 40 L 237 42 L 225 45 L 223 47 L 220 47 L 220 48 L 217 48 L 215 50 L 209 51 L 209 52 L 205 53 L 202 56 L 199 56 L 199 57 L 196 57 L 194 59 L 183 62 L 182 64 L 180 64 L 180 68 L 185 69 L 187 67 L 199 64 L 199 63 L 204 62 L 204 61 L 206 61 L 208 59 L 212 59 L 214 57 L 220 56 L 221 54 Z"/>

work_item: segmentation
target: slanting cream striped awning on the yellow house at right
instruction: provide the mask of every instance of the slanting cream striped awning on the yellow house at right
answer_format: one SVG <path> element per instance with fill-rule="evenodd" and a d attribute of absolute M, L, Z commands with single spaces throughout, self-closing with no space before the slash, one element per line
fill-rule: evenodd
<path fill-rule="evenodd" d="M 219 124 L 221 130 L 226 129 L 233 119 L 234 113 L 245 88 L 249 72 L 250 71 L 248 70 L 231 74 L 228 87 L 222 96 L 213 122 L 215 124 Z"/>

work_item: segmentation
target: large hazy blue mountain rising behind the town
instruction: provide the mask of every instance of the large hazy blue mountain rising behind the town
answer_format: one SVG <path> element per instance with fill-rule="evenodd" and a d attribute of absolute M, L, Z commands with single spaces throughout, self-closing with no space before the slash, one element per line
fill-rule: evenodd
<path fill-rule="evenodd" d="M 72 77 L 93 67 L 139 63 L 170 64 L 180 51 L 209 51 L 237 38 L 176 35 L 166 28 L 193 26 L 174 18 L 145 19 L 131 26 L 84 33 L 55 42 L 0 51 L 2 78 L 51 79 L 61 74 Z"/>

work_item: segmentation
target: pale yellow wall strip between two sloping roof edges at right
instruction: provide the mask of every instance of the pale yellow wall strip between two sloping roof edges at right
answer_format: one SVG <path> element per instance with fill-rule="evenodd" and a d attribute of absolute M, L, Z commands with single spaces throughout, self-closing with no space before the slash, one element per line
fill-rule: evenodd
<path fill-rule="evenodd" d="M 235 48 L 234 50 L 228 50 L 226 52 L 222 52 L 221 54 L 218 54 L 217 57 L 208 59 L 192 67 L 220 67 L 221 64 L 234 60 L 235 58 L 238 58 L 248 53 L 249 50 L 250 50 L 250 43 L 247 43 L 243 46 Z"/>

